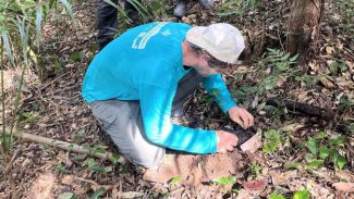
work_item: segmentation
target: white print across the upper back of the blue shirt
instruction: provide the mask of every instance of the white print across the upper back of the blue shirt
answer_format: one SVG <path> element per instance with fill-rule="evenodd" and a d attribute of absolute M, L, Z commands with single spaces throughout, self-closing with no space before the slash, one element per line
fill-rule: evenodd
<path fill-rule="evenodd" d="M 132 48 L 133 49 L 144 49 L 146 47 L 146 43 L 150 40 L 151 37 L 154 37 L 155 35 L 157 35 L 160 29 L 167 25 L 169 22 L 159 22 L 157 23 L 157 25 L 150 29 L 149 32 L 147 33 L 141 33 L 133 41 L 133 45 L 132 45 Z M 171 33 L 168 30 L 168 32 L 163 32 L 162 33 L 164 36 L 168 36 L 168 35 L 171 35 Z M 137 45 L 137 42 L 139 41 L 139 43 Z"/>

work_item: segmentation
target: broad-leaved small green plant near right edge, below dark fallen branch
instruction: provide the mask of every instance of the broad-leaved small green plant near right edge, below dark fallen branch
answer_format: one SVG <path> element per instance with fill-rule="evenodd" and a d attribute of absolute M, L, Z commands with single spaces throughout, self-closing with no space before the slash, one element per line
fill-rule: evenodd
<path fill-rule="evenodd" d="M 345 136 L 338 136 L 335 138 L 328 138 L 325 132 L 318 133 L 316 136 L 308 138 L 306 147 L 309 153 L 305 156 L 307 161 L 307 170 L 315 170 L 328 160 L 330 160 L 335 167 L 343 169 L 346 164 L 345 158 L 340 154 L 339 149 L 343 147 Z"/>

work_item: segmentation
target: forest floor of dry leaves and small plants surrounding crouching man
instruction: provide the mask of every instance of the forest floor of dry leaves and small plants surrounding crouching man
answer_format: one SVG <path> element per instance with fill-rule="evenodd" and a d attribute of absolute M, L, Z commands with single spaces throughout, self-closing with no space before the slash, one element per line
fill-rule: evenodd
<path fill-rule="evenodd" d="M 1 176 L 0 198 L 269 198 L 271 194 L 273 198 L 276 194 L 291 198 L 300 190 L 308 190 L 312 198 L 354 198 L 354 16 L 347 17 L 339 4 L 326 5 L 316 43 L 319 50 L 312 54 L 306 72 L 300 74 L 291 70 L 295 66 L 289 64 L 285 54 L 267 51 L 284 47 L 289 1 L 260 1 L 242 14 L 228 14 L 236 8 L 232 4 L 219 3 L 216 10 L 207 11 L 188 3 L 183 22 L 231 23 L 247 37 L 254 57 L 247 65 L 224 74 L 240 105 L 254 114 L 254 129 L 264 141 L 255 153 L 230 152 L 225 159 L 231 157 L 231 162 L 215 157 L 220 167 L 231 165 L 236 173 L 188 185 L 182 183 L 185 176 L 175 176 L 167 185 L 151 184 L 143 181 L 142 170 L 130 163 L 16 139 L 9 175 Z M 75 26 L 65 15 L 57 15 L 44 26 L 40 55 L 46 65 L 45 80 L 27 74 L 17 129 L 98 152 L 115 152 L 81 96 L 85 71 L 97 53 L 97 5 L 94 0 L 80 0 L 72 7 Z M 166 5 L 168 18 L 172 8 L 172 3 Z M 279 62 L 271 61 L 271 54 L 281 58 L 285 71 L 273 69 Z M 14 92 L 9 88 L 8 94 L 13 97 Z M 266 101 L 272 97 L 329 109 L 334 116 L 310 117 L 268 105 Z M 196 127 L 236 128 L 202 88 L 185 110 Z"/>

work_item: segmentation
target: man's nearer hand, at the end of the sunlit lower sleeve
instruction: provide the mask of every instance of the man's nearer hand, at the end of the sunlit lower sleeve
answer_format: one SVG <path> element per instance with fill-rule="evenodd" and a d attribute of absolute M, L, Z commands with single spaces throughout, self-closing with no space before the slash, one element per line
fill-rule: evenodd
<path fill-rule="evenodd" d="M 237 144 L 237 137 L 224 130 L 217 130 L 217 152 L 232 151 Z"/>

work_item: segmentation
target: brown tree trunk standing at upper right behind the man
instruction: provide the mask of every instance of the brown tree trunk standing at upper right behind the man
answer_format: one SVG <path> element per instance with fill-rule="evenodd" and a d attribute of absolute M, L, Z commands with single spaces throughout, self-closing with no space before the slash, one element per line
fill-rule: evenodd
<path fill-rule="evenodd" d="M 289 20 L 286 49 L 291 54 L 300 54 L 303 65 L 317 39 L 324 13 L 325 0 L 293 0 Z"/>

